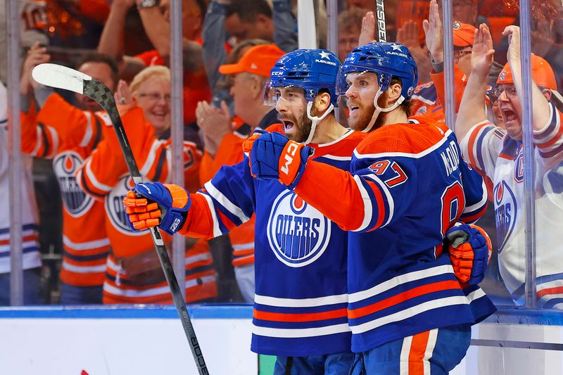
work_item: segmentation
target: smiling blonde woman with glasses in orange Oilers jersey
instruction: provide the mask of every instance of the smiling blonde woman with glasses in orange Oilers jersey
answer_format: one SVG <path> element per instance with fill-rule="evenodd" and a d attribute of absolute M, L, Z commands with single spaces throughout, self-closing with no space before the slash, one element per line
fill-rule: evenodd
<path fill-rule="evenodd" d="M 135 76 L 130 94 L 120 82 L 115 101 L 122 103 L 122 122 L 139 169 L 145 179 L 165 182 L 170 177 L 170 70 L 163 66 L 145 68 Z M 135 104 L 138 104 L 136 106 Z M 201 151 L 184 141 L 186 188 L 199 187 Z M 80 186 L 106 205 L 106 231 L 111 251 L 108 256 L 103 303 L 172 303 L 172 295 L 149 234 L 132 231 L 122 205 L 134 186 L 120 151 L 113 127 L 104 127 L 104 139 L 77 172 Z M 165 241 L 169 236 L 163 234 Z M 186 302 L 217 296 L 213 258 L 207 241 L 186 243 Z"/>

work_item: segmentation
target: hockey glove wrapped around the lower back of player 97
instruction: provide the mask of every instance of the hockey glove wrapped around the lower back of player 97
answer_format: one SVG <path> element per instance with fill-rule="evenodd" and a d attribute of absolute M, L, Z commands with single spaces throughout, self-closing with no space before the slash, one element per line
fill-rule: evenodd
<path fill-rule="evenodd" d="M 469 285 L 483 281 L 493 253 L 488 234 L 476 225 L 462 224 L 445 232 L 445 243 L 455 277 Z"/>

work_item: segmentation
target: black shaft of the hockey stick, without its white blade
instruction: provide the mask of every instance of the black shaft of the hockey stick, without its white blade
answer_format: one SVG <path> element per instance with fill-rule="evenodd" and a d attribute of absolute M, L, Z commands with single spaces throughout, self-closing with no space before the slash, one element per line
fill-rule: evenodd
<path fill-rule="evenodd" d="M 125 163 L 127 163 L 133 182 L 135 184 L 143 182 L 143 178 L 139 173 L 139 167 L 137 167 L 137 162 L 135 161 L 129 140 L 127 139 L 127 134 L 125 134 L 125 128 L 121 122 L 118 108 L 115 106 L 115 101 L 113 101 L 113 96 L 108 87 L 96 80 L 84 81 L 84 95 L 97 101 L 100 106 L 106 110 L 115 132 L 118 134 L 121 151 L 125 157 Z M 188 309 L 186 308 L 186 303 L 182 297 L 182 291 L 180 290 L 178 281 L 174 275 L 174 269 L 172 269 L 172 264 L 170 263 L 170 258 L 168 258 L 168 253 L 166 252 L 162 236 L 160 236 L 160 232 L 156 228 L 151 228 L 151 236 L 153 237 L 156 253 L 158 254 L 158 260 L 160 260 L 160 265 L 163 267 L 166 281 L 168 282 L 168 286 L 170 286 L 170 292 L 172 293 L 172 298 L 176 304 L 176 310 L 178 310 L 182 326 L 184 326 L 184 332 L 188 338 L 191 353 L 194 355 L 194 360 L 196 361 L 199 374 L 208 375 L 209 371 L 207 365 L 205 364 L 205 360 L 203 360 L 203 353 L 201 352 L 198 338 L 196 337 L 196 331 L 194 331 L 194 326 L 191 324 Z"/>

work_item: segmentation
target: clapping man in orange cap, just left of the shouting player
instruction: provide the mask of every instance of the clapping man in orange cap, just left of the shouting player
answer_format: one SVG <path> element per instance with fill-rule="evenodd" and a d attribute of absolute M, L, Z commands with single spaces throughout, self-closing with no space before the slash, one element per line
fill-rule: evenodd
<path fill-rule="evenodd" d="M 283 54 L 284 51 L 274 44 L 263 44 L 248 49 L 238 63 L 220 66 L 222 74 L 233 76 L 234 114 L 245 123 L 232 130 L 227 104 L 223 102 L 222 108 L 215 108 L 206 101 L 198 103 L 196 117 L 205 141 L 202 163 L 205 174 L 213 177 L 222 165 L 240 163 L 243 141 L 254 129 L 266 129 L 279 122 L 277 111 L 263 105 L 262 91 L 270 70 Z M 244 300 L 249 303 L 254 300 L 254 226 L 253 215 L 248 222 L 229 232 L 234 275 Z"/>

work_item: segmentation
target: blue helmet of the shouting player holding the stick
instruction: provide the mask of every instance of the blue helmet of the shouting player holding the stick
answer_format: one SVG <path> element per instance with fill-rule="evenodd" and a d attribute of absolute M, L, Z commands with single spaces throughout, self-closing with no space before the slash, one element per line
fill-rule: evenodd
<path fill-rule="evenodd" d="M 331 104 L 338 106 L 335 87 L 340 67 L 339 58 L 326 49 L 298 49 L 286 53 L 270 71 L 264 104 L 275 106 L 277 103 L 274 87 L 301 87 L 306 101 L 313 101 L 321 89 L 327 89 Z"/>

